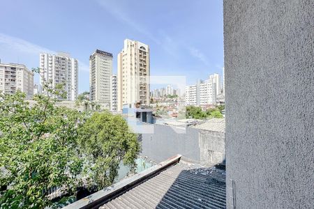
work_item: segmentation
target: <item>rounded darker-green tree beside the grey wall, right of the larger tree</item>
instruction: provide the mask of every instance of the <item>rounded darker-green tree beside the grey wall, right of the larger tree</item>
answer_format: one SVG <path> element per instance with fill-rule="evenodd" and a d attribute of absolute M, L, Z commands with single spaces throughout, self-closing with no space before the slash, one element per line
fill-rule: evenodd
<path fill-rule="evenodd" d="M 113 183 L 120 162 L 132 168 L 135 166 L 140 144 L 121 116 L 108 111 L 96 112 L 79 132 L 78 141 L 90 165 L 88 176 L 98 189 Z"/>

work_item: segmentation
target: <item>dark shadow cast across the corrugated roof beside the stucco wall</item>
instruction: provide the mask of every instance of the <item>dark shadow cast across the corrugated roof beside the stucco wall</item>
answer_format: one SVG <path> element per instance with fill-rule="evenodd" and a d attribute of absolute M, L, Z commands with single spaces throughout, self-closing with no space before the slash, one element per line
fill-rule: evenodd
<path fill-rule="evenodd" d="M 226 208 L 224 168 L 220 164 L 181 171 L 156 208 Z"/>

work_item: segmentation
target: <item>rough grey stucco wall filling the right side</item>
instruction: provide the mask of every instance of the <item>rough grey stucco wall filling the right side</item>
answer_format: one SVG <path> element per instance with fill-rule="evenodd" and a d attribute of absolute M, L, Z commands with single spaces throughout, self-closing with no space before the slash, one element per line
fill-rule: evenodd
<path fill-rule="evenodd" d="M 313 2 L 223 1 L 228 208 L 314 207 Z"/>

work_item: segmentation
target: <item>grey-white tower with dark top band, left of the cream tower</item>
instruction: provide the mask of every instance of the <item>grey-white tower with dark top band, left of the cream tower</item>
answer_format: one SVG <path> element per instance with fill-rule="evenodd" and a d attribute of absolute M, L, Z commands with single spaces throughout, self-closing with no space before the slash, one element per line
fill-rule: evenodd
<path fill-rule="evenodd" d="M 112 54 L 96 49 L 89 56 L 89 91 L 91 100 L 111 107 L 112 92 Z"/>

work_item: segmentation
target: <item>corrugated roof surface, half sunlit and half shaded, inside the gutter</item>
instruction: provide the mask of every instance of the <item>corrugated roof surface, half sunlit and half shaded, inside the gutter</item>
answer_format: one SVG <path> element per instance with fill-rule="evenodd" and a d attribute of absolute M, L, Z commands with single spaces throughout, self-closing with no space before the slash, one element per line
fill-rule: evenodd
<path fill-rule="evenodd" d="M 225 171 L 179 162 L 129 189 L 104 208 L 225 208 Z"/>

